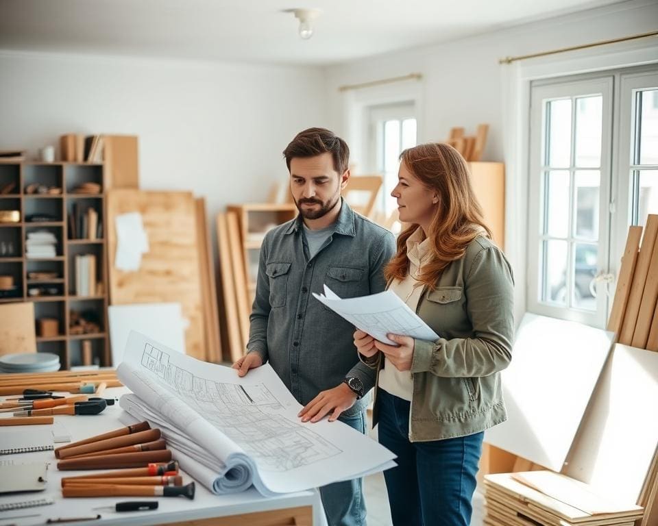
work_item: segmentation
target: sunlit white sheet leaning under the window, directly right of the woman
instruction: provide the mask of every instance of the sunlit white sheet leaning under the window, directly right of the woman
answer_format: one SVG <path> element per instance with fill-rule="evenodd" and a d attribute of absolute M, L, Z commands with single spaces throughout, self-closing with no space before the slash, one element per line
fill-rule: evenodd
<path fill-rule="evenodd" d="M 502 371 L 509 419 L 485 441 L 560 471 L 607 357 L 613 333 L 525 314 Z"/>

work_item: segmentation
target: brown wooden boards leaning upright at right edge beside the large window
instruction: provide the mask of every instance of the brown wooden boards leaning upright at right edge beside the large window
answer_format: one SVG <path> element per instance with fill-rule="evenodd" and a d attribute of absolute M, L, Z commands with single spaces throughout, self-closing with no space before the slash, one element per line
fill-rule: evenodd
<path fill-rule="evenodd" d="M 642 227 L 630 227 L 608 321 L 608 330 L 618 334 L 620 343 L 650 351 L 658 351 L 657 234 L 655 214 L 648 216 L 644 233 Z"/>

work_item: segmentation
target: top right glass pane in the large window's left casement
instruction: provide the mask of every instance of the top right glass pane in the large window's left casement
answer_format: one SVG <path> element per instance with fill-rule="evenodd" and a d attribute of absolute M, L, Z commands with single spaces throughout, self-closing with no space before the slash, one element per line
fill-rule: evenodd
<path fill-rule="evenodd" d="M 576 99 L 576 167 L 598 168 L 601 164 L 603 97 Z"/>

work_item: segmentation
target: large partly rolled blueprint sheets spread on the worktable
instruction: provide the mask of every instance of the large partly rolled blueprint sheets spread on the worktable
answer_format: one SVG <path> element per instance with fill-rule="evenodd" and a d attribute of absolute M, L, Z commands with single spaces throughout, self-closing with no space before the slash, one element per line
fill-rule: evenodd
<path fill-rule="evenodd" d="M 134 395 L 121 407 L 160 427 L 181 466 L 215 493 L 252 484 L 264 495 L 294 492 L 395 466 L 391 451 L 348 425 L 302 423 L 302 405 L 268 364 L 240 378 L 136 332 L 123 360 L 117 375 Z"/>

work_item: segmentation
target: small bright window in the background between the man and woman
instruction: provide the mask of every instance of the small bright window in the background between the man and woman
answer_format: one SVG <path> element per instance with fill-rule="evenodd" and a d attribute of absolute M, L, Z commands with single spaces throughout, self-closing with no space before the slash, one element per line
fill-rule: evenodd
<path fill-rule="evenodd" d="M 400 153 L 416 145 L 417 122 L 413 103 L 371 106 L 370 151 L 371 166 L 384 177 L 379 208 L 386 216 L 397 210 L 398 205 L 391 192 L 398 184 Z"/>

